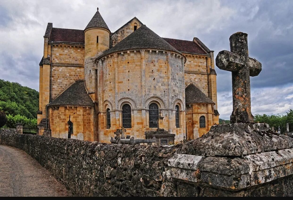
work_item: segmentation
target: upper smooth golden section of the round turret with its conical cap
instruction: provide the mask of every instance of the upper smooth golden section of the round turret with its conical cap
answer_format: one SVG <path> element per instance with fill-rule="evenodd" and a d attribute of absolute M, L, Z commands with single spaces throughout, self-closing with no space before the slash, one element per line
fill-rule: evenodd
<path fill-rule="evenodd" d="M 109 40 L 110 30 L 97 8 L 96 14 L 84 29 L 85 58 L 93 57 L 109 49 Z"/>

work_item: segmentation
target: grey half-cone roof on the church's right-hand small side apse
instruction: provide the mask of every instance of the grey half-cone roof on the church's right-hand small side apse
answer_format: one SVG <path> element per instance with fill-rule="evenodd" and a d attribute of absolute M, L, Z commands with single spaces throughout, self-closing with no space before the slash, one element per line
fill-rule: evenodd
<path fill-rule="evenodd" d="M 191 103 L 212 103 L 215 104 L 210 98 L 207 97 L 200 89 L 193 83 L 190 83 L 185 88 L 185 104 Z"/>

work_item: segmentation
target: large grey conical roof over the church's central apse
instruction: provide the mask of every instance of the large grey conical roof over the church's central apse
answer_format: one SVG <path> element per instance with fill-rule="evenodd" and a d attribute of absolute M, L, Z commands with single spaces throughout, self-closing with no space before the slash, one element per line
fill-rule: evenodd
<path fill-rule="evenodd" d="M 104 51 L 98 58 L 102 58 L 103 56 L 117 51 L 131 49 L 161 49 L 179 53 L 176 48 L 154 33 L 154 31 L 149 29 L 146 25 L 142 25 L 136 31 L 116 44 L 113 48 Z"/>

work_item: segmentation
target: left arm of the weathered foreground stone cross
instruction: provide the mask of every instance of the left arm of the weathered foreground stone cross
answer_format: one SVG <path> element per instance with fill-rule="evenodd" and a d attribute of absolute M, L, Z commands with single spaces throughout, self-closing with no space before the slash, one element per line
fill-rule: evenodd
<path fill-rule="evenodd" d="M 237 53 L 231 51 L 220 51 L 216 57 L 216 65 L 218 68 L 226 71 L 239 71 L 244 66 L 243 61 Z"/>

